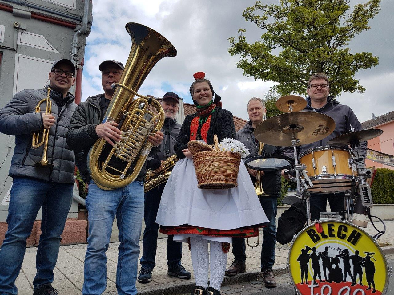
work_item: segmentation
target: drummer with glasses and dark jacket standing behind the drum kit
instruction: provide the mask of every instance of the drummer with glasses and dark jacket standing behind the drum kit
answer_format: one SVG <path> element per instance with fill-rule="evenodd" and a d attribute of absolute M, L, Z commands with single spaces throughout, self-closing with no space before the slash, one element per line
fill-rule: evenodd
<path fill-rule="evenodd" d="M 327 76 L 323 73 L 313 74 L 310 76 L 307 87 L 307 107 L 304 111 L 318 112 L 330 116 L 335 121 L 335 130 L 326 138 L 299 146 L 299 153 L 308 149 L 325 146 L 327 142 L 336 136 L 354 131 L 361 130 L 361 124 L 354 112 L 347 105 L 340 105 L 334 100 L 334 96 L 329 96 L 330 83 Z M 367 142 L 361 142 L 361 150 L 366 153 Z M 293 148 L 285 147 L 284 155 L 294 158 Z M 283 174 L 282 174 L 283 175 Z M 287 176 L 285 176 L 287 177 Z M 312 221 L 320 219 L 320 212 L 327 211 L 327 199 L 330 204 L 331 212 L 340 212 L 344 210 L 344 193 L 325 193 L 310 194 L 310 213 Z"/>

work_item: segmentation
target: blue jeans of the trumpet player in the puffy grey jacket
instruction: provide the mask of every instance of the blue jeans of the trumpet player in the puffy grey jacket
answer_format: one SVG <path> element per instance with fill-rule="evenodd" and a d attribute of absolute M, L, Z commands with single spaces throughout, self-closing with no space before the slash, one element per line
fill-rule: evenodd
<path fill-rule="evenodd" d="M 31 177 L 14 177 L 9 200 L 8 230 L 0 250 L 0 294 L 18 293 L 15 286 L 26 240 L 32 233 L 37 213 L 42 210 L 41 236 L 37 249 L 34 289 L 53 282 L 61 233 L 72 202 L 73 184 L 51 183 Z"/>

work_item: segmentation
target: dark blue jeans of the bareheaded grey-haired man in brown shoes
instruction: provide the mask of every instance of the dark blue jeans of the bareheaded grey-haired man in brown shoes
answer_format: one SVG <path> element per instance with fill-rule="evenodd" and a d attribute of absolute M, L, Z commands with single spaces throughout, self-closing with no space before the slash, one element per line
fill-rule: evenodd
<path fill-rule="evenodd" d="M 269 223 L 263 228 L 263 242 L 261 247 L 260 268 L 272 269 L 275 263 L 275 245 L 276 245 L 276 197 L 260 197 L 261 206 L 264 209 Z M 245 238 L 232 238 L 232 254 L 234 259 L 245 262 Z"/>

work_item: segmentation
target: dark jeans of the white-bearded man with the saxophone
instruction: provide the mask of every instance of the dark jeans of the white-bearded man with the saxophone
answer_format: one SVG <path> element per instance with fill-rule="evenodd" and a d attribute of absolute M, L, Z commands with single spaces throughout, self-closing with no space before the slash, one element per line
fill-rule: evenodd
<path fill-rule="evenodd" d="M 156 265 L 156 248 L 159 225 L 156 223 L 157 211 L 159 210 L 160 199 L 164 190 L 164 184 L 152 188 L 145 193 L 144 220 L 145 230 L 142 239 L 143 255 L 139 260 L 142 267 L 153 270 Z M 167 238 L 167 265 L 168 269 L 174 269 L 180 265 L 182 258 L 182 243 L 174 242 L 174 236 Z"/>

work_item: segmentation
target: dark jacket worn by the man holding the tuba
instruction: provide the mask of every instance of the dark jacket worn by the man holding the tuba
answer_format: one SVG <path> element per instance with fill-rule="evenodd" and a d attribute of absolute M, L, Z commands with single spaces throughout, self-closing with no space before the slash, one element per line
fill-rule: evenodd
<path fill-rule="evenodd" d="M 88 97 L 76 107 L 71 118 L 70 128 L 66 134 L 67 144 L 75 151 L 76 166 L 84 181 L 91 179 L 87 170 L 87 154 L 90 148 L 99 139 L 96 133 L 96 126 L 101 124 L 100 100 L 104 94 Z M 147 116 L 147 115 L 145 115 Z M 153 147 L 149 156 L 155 155 L 160 150 L 160 146 Z M 136 178 L 137 181 L 144 181 L 146 173 L 146 162 Z"/>

